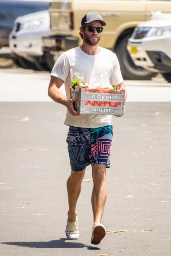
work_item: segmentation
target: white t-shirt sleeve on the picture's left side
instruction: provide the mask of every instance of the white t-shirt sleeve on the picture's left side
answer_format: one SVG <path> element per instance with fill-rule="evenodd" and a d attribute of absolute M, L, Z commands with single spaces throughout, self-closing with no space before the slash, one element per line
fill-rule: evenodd
<path fill-rule="evenodd" d="M 70 64 L 64 53 L 56 60 L 50 76 L 58 77 L 64 82 L 70 76 Z"/>

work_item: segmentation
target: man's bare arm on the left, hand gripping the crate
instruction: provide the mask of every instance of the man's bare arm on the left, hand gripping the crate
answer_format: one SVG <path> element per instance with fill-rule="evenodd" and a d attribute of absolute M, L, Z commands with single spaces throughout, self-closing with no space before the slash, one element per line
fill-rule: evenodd
<path fill-rule="evenodd" d="M 53 101 L 65 105 L 65 107 L 68 108 L 68 111 L 71 115 L 79 116 L 79 114 L 77 114 L 77 112 L 74 110 L 73 103 L 75 100 L 67 99 L 59 89 L 63 83 L 64 81 L 60 78 L 51 76 L 51 80 L 48 87 L 48 96 L 52 98 Z"/>

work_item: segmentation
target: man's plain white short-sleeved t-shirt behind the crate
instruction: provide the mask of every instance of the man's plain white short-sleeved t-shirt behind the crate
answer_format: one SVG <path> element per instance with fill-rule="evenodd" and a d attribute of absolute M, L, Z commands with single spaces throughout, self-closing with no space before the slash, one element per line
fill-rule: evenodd
<path fill-rule="evenodd" d="M 100 47 L 100 53 L 97 55 L 86 54 L 81 47 L 64 52 L 55 62 L 51 75 L 64 81 L 68 99 L 70 98 L 71 81 L 77 77 L 89 82 L 90 88 L 100 84 L 117 85 L 123 82 L 116 54 L 103 47 Z M 74 117 L 67 110 L 65 125 L 98 128 L 112 125 L 112 121 L 111 115 L 82 114 L 79 117 Z"/>

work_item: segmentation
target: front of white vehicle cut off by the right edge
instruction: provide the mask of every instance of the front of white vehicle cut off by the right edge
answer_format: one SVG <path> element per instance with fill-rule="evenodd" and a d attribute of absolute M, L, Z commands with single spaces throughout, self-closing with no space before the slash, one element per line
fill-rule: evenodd
<path fill-rule="evenodd" d="M 135 65 L 161 73 L 171 83 L 171 13 L 139 24 L 127 49 Z"/>

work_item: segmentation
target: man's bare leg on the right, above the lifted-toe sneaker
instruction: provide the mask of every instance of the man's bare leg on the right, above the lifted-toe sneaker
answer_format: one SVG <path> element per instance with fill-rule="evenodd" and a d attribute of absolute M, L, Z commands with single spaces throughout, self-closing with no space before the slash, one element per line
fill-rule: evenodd
<path fill-rule="evenodd" d="M 92 177 L 94 182 L 91 202 L 94 214 L 94 226 L 101 223 L 107 198 L 106 165 L 93 165 Z"/>

